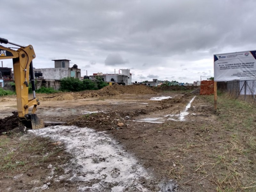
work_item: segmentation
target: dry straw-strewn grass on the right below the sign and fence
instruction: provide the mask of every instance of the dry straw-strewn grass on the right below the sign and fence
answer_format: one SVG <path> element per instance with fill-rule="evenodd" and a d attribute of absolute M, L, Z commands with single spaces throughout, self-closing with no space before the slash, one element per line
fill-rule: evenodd
<path fill-rule="evenodd" d="M 199 100 L 213 103 L 212 96 Z M 255 106 L 221 95 L 216 122 L 160 126 L 158 130 L 172 130 L 177 137 L 158 153 L 161 161 L 169 162 L 166 174 L 186 190 L 212 186 L 217 192 L 256 191 L 255 112 Z"/>

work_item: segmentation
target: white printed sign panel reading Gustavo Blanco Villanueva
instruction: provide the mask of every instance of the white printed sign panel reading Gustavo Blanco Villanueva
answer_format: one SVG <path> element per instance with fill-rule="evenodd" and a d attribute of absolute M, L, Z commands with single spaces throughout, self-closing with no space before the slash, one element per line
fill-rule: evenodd
<path fill-rule="evenodd" d="M 256 50 L 216 54 L 214 81 L 256 80 Z"/>

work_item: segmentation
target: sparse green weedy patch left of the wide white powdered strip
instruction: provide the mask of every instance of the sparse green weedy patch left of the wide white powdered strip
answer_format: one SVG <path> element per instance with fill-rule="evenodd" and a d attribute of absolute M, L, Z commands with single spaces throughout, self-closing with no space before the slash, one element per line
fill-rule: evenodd
<path fill-rule="evenodd" d="M 70 158 L 64 148 L 52 143 L 49 138 L 1 136 L 0 148 L 1 177 L 12 177 L 20 172 L 32 171 L 49 162 L 58 167 L 58 164 L 64 164 Z"/>

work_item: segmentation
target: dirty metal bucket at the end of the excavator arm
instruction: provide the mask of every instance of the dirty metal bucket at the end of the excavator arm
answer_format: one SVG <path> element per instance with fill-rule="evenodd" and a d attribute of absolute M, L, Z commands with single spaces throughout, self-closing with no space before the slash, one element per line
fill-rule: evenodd
<path fill-rule="evenodd" d="M 25 119 L 20 119 L 20 123 L 28 129 L 44 128 L 44 122 L 42 119 L 38 118 L 36 114 L 25 115 Z"/>

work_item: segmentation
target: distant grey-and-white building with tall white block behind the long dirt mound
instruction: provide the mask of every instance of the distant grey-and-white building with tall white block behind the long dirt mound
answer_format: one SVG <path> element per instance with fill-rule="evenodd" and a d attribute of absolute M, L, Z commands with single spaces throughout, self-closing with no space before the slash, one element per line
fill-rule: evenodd
<path fill-rule="evenodd" d="M 120 73 L 122 70 L 122 73 Z M 97 81 L 97 78 L 100 77 L 105 82 L 117 82 L 122 85 L 131 85 L 132 84 L 132 74 L 130 73 L 130 69 L 120 69 L 119 73 L 116 74 L 103 74 L 102 72 L 93 73 L 90 76 L 92 81 Z"/>

